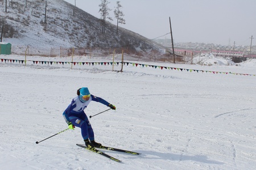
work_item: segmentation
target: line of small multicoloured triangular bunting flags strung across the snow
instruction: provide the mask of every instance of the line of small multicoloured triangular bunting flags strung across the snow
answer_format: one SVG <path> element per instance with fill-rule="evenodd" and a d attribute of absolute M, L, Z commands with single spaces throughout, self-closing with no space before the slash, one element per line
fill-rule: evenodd
<path fill-rule="evenodd" d="M 249 76 L 255 76 L 255 74 L 242 74 L 242 73 L 231 73 L 231 72 L 220 72 L 220 71 L 208 71 L 208 70 L 195 70 L 195 69 L 183 69 L 183 68 L 178 68 L 178 67 L 167 67 L 167 66 L 155 66 L 155 65 L 146 65 L 146 64 L 142 64 L 142 63 L 133 63 L 133 62 L 63 62 L 63 61 L 33 61 L 33 60 L 27 60 L 27 61 L 32 61 L 35 65 L 38 65 L 38 64 L 41 64 L 41 65 L 52 65 L 52 64 L 56 64 L 58 65 L 58 63 L 60 65 L 64 65 L 64 64 L 73 64 L 74 66 L 75 65 L 119 65 L 119 63 L 123 64 L 124 66 L 129 66 L 129 65 L 132 65 L 132 66 L 135 66 L 135 67 L 138 67 L 138 66 L 146 66 L 146 67 L 152 67 L 154 69 L 156 68 L 159 68 L 161 70 L 163 69 L 168 69 L 168 70 L 177 70 L 177 71 L 183 71 L 183 70 L 186 70 L 187 72 L 190 72 L 192 73 L 192 71 L 194 72 L 201 72 L 201 73 L 213 73 L 213 74 L 233 74 L 233 75 L 249 75 Z M 10 62 L 10 63 L 26 63 L 27 62 L 26 60 L 22 60 L 22 59 L 4 59 L 4 58 L 1 58 L 1 62 Z"/>

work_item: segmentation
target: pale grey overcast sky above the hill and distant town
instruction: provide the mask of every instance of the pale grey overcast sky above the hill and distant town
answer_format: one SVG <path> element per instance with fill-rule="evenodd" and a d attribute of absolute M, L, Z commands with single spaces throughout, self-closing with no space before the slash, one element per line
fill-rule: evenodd
<path fill-rule="evenodd" d="M 65 0 L 100 18 L 101 0 Z M 117 0 L 108 0 L 113 24 Z M 148 39 L 250 45 L 256 36 L 256 0 L 119 0 L 126 24 L 120 27 Z M 166 35 L 166 36 L 163 36 Z M 162 36 L 162 37 L 160 37 Z M 253 45 L 256 39 L 253 39 Z"/>

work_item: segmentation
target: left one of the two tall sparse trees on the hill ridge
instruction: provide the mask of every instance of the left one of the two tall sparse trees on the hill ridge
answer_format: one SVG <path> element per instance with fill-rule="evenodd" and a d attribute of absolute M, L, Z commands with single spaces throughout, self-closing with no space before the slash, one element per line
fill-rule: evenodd
<path fill-rule="evenodd" d="M 106 30 L 106 19 L 109 20 L 113 20 L 110 16 L 109 16 L 109 11 L 110 8 L 108 7 L 108 4 L 110 2 L 108 2 L 108 0 L 101 0 L 101 4 L 100 6 L 100 10 L 98 12 L 101 12 L 101 18 L 102 18 L 102 33 L 105 33 Z"/>

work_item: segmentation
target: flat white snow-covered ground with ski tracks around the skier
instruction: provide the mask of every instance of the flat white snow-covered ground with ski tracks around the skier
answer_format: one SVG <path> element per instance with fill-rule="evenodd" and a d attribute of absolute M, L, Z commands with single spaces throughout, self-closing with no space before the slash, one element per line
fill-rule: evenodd
<path fill-rule="evenodd" d="M 163 65 L 155 63 L 155 65 Z M 240 66 L 173 65 L 256 74 Z M 256 76 L 125 66 L 123 73 L 0 67 L 1 169 L 255 169 Z M 90 119 L 96 141 L 142 155 L 105 151 L 117 163 L 76 146 L 62 113 L 79 87 L 117 107 Z M 108 109 L 90 103 L 88 116 Z"/>

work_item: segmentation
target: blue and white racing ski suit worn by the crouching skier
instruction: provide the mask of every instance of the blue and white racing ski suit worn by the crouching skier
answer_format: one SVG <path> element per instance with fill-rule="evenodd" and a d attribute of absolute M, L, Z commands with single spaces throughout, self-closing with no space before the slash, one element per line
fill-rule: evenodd
<path fill-rule="evenodd" d="M 79 96 L 72 99 L 71 104 L 68 105 L 68 108 L 63 112 L 63 117 L 67 123 L 72 122 L 76 127 L 81 128 L 82 138 L 88 139 L 90 141 L 94 140 L 94 133 L 92 126 L 86 116 L 84 109 L 88 107 L 90 101 L 97 101 L 106 106 L 109 106 L 110 103 L 108 101 L 101 99 L 100 97 L 96 97 L 94 95 L 90 95 L 89 100 L 85 103 L 79 99 Z"/>

